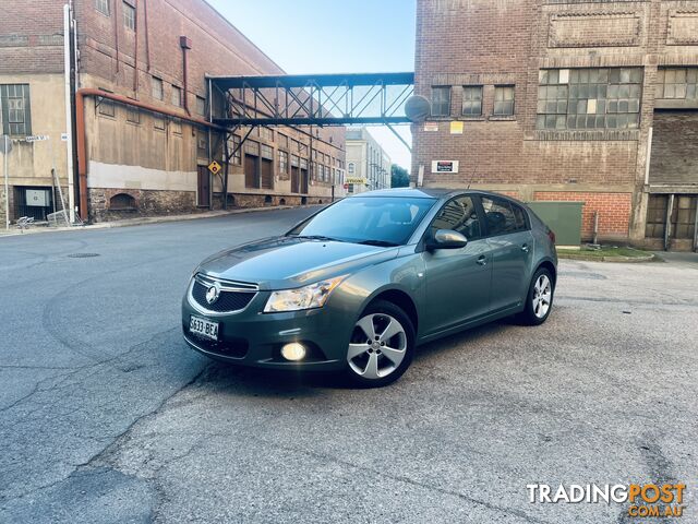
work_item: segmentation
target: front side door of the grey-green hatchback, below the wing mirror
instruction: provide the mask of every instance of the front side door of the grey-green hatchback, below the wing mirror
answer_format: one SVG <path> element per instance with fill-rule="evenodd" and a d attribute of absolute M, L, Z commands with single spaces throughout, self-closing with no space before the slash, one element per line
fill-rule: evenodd
<path fill-rule="evenodd" d="M 460 249 L 424 251 L 426 278 L 425 334 L 433 334 L 478 319 L 490 310 L 489 245 L 482 216 L 470 195 L 449 200 L 438 211 L 426 235 L 453 229 L 468 239 Z"/>

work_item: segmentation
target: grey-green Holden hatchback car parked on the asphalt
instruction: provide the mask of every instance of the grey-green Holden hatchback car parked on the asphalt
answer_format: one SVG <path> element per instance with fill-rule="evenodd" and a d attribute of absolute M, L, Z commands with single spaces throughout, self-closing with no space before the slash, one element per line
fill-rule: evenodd
<path fill-rule="evenodd" d="M 182 302 L 191 347 L 245 366 L 386 385 L 420 344 L 551 313 L 555 235 L 482 191 L 394 189 L 334 203 L 286 235 L 217 253 Z"/>

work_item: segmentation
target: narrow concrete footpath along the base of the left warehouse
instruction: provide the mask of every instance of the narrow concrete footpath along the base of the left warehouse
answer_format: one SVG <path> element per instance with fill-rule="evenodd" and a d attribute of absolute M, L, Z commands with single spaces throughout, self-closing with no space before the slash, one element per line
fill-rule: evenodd
<path fill-rule="evenodd" d="M 321 205 L 321 204 L 317 204 Z M 17 235 L 32 235 L 37 233 L 56 233 L 56 231 L 77 231 L 77 230 L 87 230 L 87 229 L 108 229 L 112 227 L 131 227 L 131 226 L 143 226 L 148 224 L 160 224 L 166 222 L 183 222 L 183 221 L 195 221 L 200 218 L 215 218 L 218 216 L 226 215 L 237 215 L 241 213 L 255 213 L 262 211 L 278 211 L 278 210 L 290 210 L 293 207 L 315 207 L 316 205 L 302 205 L 302 206 L 292 206 L 292 205 L 277 205 L 277 206 L 266 206 L 266 207 L 242 207 L 236 210 L 219 210 L 219 211 L 207 211 L 203 213 L 193 213 L 186 215 L 163 215 L 163 216 L 143 216 L 139 218 L 125 218 L 122 221 L 111 221 L 111 222 L 100 222 L 98 224 L 88 224 L 88 225 L 75 225 L 75 226 L 63 226 L 63 227 L 49 227 L 45 224 L 33 225 L 26 229 L 20 229 L 16 224 L 10 226 L 10 229 L 0 229 L 0 238 L 2 237 L 13 237 Z"/>

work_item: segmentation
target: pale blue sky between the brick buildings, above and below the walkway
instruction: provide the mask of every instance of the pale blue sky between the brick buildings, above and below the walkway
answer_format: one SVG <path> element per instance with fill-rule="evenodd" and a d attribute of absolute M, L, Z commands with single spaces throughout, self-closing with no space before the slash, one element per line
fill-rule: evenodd
<path fill-rule="evenodd" d="M 208 2 L 291 74 L 414 69 L 414 0 Z M 409 170 L 410 153 L 390 130 L 370 131 Z M 398 131 L 411 143 L 409 126 Z"/>

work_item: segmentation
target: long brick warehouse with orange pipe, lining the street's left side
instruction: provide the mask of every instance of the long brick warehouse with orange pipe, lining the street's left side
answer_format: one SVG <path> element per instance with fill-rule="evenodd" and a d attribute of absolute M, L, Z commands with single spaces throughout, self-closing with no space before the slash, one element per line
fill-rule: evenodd
<path fill-rule="evenodd" d="M 64 3 L 0 0 L 0 103 L 2 133 L 13 140 L 12 218 L 44 218 L 55 210 L 51 169 L 69 193 L 69 148 L 61 141 L 68 130 Z M 81 214 L 107 221 L 219 207 L 225 169 L 212 175 L 207 166 L 214 159 L 224 164 L 224 144 L 219 129 L 208 124 L 206 76 L 282 74 L 281 69 L 203 0 L 72 4 L 77 52 L 68 53 L 75 57 L 68 99 L 76 114 L 74 191 Z M 214 112 L 221 107 L 218 96 Z M 229 151 L 246 131 L 237 130 Z M 27 141 L 28 135 L 49 140 Z M 231 158 L 228 204 L 326 202 L 333 184 L 341 195 L 344 147 L 344 128 L 255 128 Z M 36 190 L 44 205 L 33 205 Z"/>

